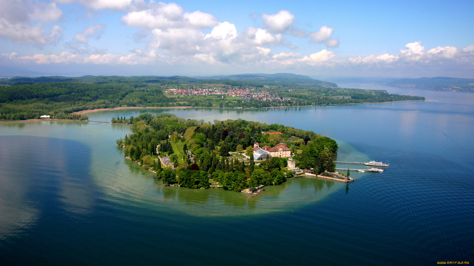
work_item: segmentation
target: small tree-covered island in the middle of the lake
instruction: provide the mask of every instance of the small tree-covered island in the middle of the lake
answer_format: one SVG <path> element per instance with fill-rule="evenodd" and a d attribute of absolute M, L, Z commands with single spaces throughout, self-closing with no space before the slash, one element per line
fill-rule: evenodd
<path fill-rule="evenodd" d="M 302 169 L 334 172 L 337 142 L 312 131 L 282 124 L 242 119 L 205 123 L 173 114 L 150 113 L 115 118 L 133 123 L 130 135 L 117 140 L 126 158 L 156 172 L 164 185 L 242 191 L 262 185 L 277 186 L 292 177 L 288 158 L 272 157 L 255 163 L 254 143 L 274 147 L 283 143 Z M 273 134 L 271 134 L 273 133 Z M 164 164 L 162 163 L 164 161 Z"/>

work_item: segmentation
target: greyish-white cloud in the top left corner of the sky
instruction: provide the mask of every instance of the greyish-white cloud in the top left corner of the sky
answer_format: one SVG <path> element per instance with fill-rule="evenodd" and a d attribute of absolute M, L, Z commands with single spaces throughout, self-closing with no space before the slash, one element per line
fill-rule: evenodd
<path fill-rule="evenodd" d="M 55 3 L 41 1 L 0 0 L 0 36 L 22 44 L 51 44 L 61 37 L 62 28 L 58 25 L 49 34 L 40 23 L 52 22 L 63 16 Z"/>

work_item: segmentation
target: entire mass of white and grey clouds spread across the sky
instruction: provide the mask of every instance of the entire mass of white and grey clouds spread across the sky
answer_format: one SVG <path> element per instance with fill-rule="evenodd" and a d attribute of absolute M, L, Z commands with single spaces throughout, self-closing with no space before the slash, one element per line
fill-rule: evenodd
<path fill-rule="evenodd" d="M 464 48 L 435 47 L 427 50 L 421 42 L 406 44 L 398 54 L 370 54 L 341 58 L 330 48 L 340 45 L 333 37 L 335 29 L 321 26 L 307 32 L 297 26 L 297 18 L 289 10 L 273 14 L 252 14 L 261 19 L 260 27 L 246 27 L 238 32 L 235 24 L 219 21 L 201 10 L 185 11 L 176 3 L 143 0 L 56 0 L 58 3 L 79 3 L 90 10 L 113 9 L 122 12 L 120 23 L 136 28 L 146 36 L 145 47 L 131 49 L 131 53 L 106 53 L 105 49 L 89 46 L 91 38 L 99 39 L 106 25 L 91 25 L 77 32 L 66 43 L 69 51 L 58 54 L 20 56 L 2 53 L 1 60 L 33 64 L 109 64 L 109 65 L 169 65 L 192 67 L 232 67 L 233 69 L 322 69 L 405 70 L 410 69 L 474 69 L 474 45 Z M 23 44 L 54 44 L 61 37 L 62 28 L 51 25 L 63 17 L 55 2 L 0 0 L 0 36 Z M 42 23 L 49 23 L 49 33 Z M 208 32 L 206 34 L 206 32 Z M 210 33 L 209 33 L 210 32 Z M 314 53 L 274 53 L 278 49 L 297 47 L 290 36 L 310 44 L 324 44 Z"/>

